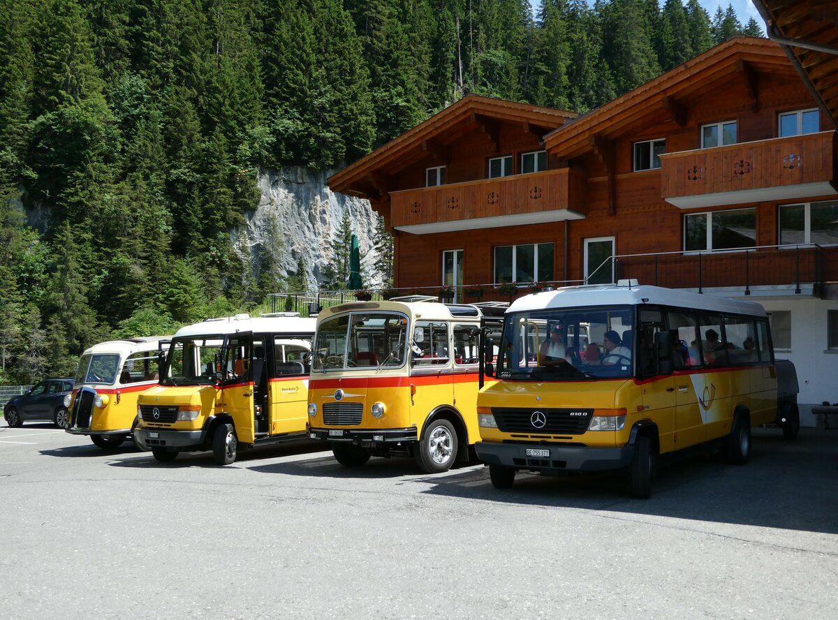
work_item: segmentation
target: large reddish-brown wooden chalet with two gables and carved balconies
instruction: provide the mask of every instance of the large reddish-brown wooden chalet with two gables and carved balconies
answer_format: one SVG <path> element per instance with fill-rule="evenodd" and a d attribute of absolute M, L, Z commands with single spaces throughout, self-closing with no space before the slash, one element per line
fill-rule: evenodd
<path fill-rule="evenodd" d="M 801 400 L 838 401 L 832 90 L 735 36 L 582 116 L 467 96 L 329 185 L 384 216 L 396 287 L 501 300 L 629 277 L 756 298 L 780 356 L 817 351 Z"/>

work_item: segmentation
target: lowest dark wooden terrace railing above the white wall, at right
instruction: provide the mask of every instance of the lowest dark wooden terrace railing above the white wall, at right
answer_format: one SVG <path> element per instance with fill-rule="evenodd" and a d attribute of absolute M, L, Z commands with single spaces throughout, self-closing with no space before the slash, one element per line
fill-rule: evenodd
<path fill-rule="evenodd" d="M 667 288 L 740 288 L 750 295 L 757 287 L 786 287 L 800 294 L 804 287 L 818 294 L 825 282 L 838 278 L 838 247 L 766 245 L 742 251 L 669 252 L 614 256 L 616 278 Z"/>

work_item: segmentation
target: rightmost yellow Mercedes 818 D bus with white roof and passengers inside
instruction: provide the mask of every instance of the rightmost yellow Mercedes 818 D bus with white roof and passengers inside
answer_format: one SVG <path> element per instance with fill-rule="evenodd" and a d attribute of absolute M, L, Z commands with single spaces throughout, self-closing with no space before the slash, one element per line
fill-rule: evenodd
<path fill-rule="evenodd" d="M 516 300 L 499 343 L 475 446 L 498 488 L 518 470 L 625 468 L 631 493 L 649 497 L 660 455 L 719 442 L 742 464 L 751 426 L 779 422 L 789 438 L 799 428 L 794 367 L 783 366 L 793 387 L 779 399 L 758 303 L 636 281 L 566 287 Z"/>

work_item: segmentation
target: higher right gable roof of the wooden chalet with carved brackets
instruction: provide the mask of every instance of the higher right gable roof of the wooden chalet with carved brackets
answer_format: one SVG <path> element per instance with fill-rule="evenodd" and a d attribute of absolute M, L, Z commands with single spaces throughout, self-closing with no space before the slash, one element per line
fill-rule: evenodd
<path fill-rule="evenodd" d="M 683 125 L 686 101 L 706 94 L 714 85 L 735 76 L 743 81 L 756 103 L 760 73 L 796 77 L 778 44 L 741 34 L 732 36 L 704 54 L 550 132 L 544 138 L 545 146 L 557 157 L 569 159 L 594 149 L 597 141 L 631 135 L 639 127 L 661 120 L 671 118 Z"/>

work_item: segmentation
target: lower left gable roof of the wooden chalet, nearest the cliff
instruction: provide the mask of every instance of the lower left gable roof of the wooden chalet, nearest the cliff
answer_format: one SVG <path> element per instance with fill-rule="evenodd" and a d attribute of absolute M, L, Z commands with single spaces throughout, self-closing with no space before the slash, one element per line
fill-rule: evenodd
<path fill-rule="evenodd" d="M 358 161 L 328 178 L 328 185 L 343 194 L 380 194 L 380 178 L 393 175 L 444 150 L 452 142 L 475 129 L 491 134 L 493 124 L 518 123 L 539 137 L 576 118 L 577 113 L 532 106 L 478 95 L 467 95 L 442 111 L 387 142 Z M 531 129 L 530 129 L 531 128 Z M 378 188 L 377 190 L 374 188 Z M 372 195 L 370 195 L 370 192 Z"/>

